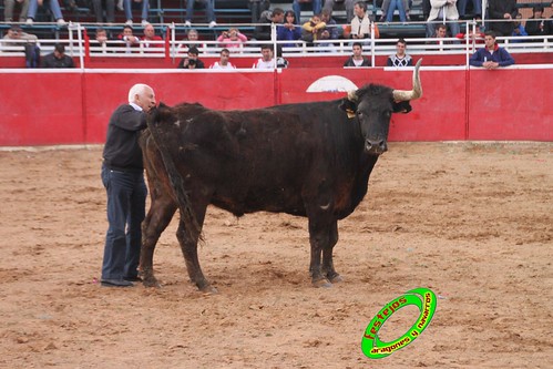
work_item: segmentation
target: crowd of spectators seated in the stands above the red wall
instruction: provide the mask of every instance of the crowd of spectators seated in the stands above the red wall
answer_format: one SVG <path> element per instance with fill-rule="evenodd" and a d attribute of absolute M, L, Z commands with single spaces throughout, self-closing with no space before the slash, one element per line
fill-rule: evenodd
<path fill-rule="evenodd" d="M 20 6 L 19 22 L 24 22 L 28 24 L 33 24 L 37 11 L 40 7 L 48 3 L 51 14 L 59 27 L 64 27 L 66 21 L 64 20 L 60 3 L 58 0 L 4 0 L 4 20 L 14 21 L 14 8 Z M 69 0 L 73 1 L 73 0 Z M 141 27 L 143 29 L 143 34 L 135 34 L 133 28 L 133 12 L 132 2 L 140 4 L 141 13 Z M 187 30 L 186 40 L 190 44 L 185 45 L 187 50 L 187 58 L 184 58 L 178 68 L 183 69 L 202 69 L 206 68 L 204 63 L 198 59 L 198 32 L 193 28 L 194 18 L 194 2 L 193 0 L 186 1 L 186 13 L 184 18 L 184 27 Z M 214 0 L 201 1 L 202 6 L 205 8 L 203 18 L 205 18 L 206 24 L 209 29 L 218 32 L 219 27 L 214 12 Z M 306 21 L 301 21 L 301 9 L 305 8 L 305 2 L 309 2 L 313 14 Z M 382 22 L 391 22 L 397 11 L 399 14 L 400 22 L 410 21 L 410 10 L 412 7 L 412 1 L 410 0 L 382 0 L 377 1 L 381 7 L 381 16 L 378 22 L 375 20 L 375 12 L 370 11 L 367 7 L 366 1 L 358 0 L 294 0 L 291 3 L 291 9 L 284 10 L 278 7 L 272 8 L 272 3 L 268 0 L 249 0 L 249 8 L 252 11 L 252 21 L 255 22 L 255 28 L 252 34 L 248 35 L 240 32 L 239 28 L 231 27 L 217 33 L 213 41 L 217 42 L 221 50 L 221 60 L 208 66 L 208 68 L 234 68 L 229 62 L 229 57 L 233 52 L 240 50 L 245 43 L 252 40 L 267 41 L 272 40 L 273 25 L 276 24 L 276 39 L 283 41 L 279 43 L 278 50 L 273 50 L 272 47 L 259 44 L 262 48 L 262 58 L 256 62 L 254 68 L 275 68 L 279 64 L 278 57 L 281 57 L 281 48 L 294 48 L 298 44 L 306 44 L 308 47 L 329 47 L 332 40 L 348 39 L 351 45 L 351 57 L 345 62 L 344 66 L 370 66 L 370 61 L 362 55 L 363 45 L 370 44 L 370 39 L 378 39 L 380 35 L 379 24 Z M 372 1 L 370 1 L 372 3 Z M 115 20 L 115 9 L 124 11 L 125 13 L 125 24 L 119 34 L 111 34 L 105 28 L 96 28 L 95 30 L 95 41 L 100 45 L 113 45 L 117 41 L 124 44 L 125 52 L 132 53 L 136 48 L 151 49 L 155 51 L 156 48 L 163 48 L 163 37 L 155 34 L 155 28 L 149 22 L 149 0 L 92 0 L 92 10 L 95 16 L 95 20 L 100 27 L 102 24 L 113 25 Z M 468 4 L 470 4 L 471 17 L 474 18 L 478 27 L 478 31 L 474 32 L 473 29 L 468 29 L 467 32 L 461 32 L 460 20 L 465 18 L 468 14 Z M 344 9 L 346 12 L 347 21 L 346 23 L 338 24 L 337 20 L 332 17 L 332 12 L 336 7 Z M 482 1 L 481 0 L 423 0 L 422 10 L 424 12 L 426 23 L 426 35 L 427 38 L 432 38 L 439 43 L 460 43 L 467 38 L 475 43 L 484 43 L 485 50 L 492 54 L 503 54 L 504 49 L 501 52 L 494 53 L 494 50 L 489 43 L 492 41 L 488 40 L 491 38 L 493 44 L 496 45 L 495 37 L 513 37 L 522 38 L 529 35 L 551 35 L 553 34 L 553 17 L 544 18 L 546 12 L 544 7 L 535 6 L 533 7 L 533 14 L 531 19 L 525 21 L 523 24 L 522 16 L 519 13 L 516 8 L 516 0 L 488 0 L 487 19 L 492 20 L 492 22 L 487 23 L 484 34 L 483 28 L 481 28 L 481 16 L 482 16 Z M 550 3 L 549 14 L 553 12 L 553 2 Z M 305 18 L 304 18 L 305 19 Z M 215 29 L 216 28 L 216 29 Z M 11 45 L 16 45 L 17 40 L 32 40 L 37 41 L 37 38 L 32 34 L 25 33 L 21 30 L 19 25 L 11 27 L 3 38 L 4 40 L 11 40 Z M 440 41 L 443 39 L 443 41 Z M 522 41 L 513 40 L 513 42 Z M 412 65 L 411 58 L 406 54 L 407 42 L 400 39 L 397 43 L 397 53 L 391 55 L 388 60 L 388 65 L 390 66 L 408 66 Z M 270 49 L 270 50 L 269 50 Z M 275 58 L 276 53 L 276 58 Z M 491 61 L 490 55 L 483 52 L 484 57 Z M 63 51 L 59 50 L 57 47 L 52 58 L 57 58 L 58 63 L 50 63 L 51 65 L 65 65 L 61 63 L 60 60 L 66 57 Z M 477 55 L 477 54 L 474 54 Z M 480 54 L 479 54 L 480 55 Z M 52 58 L 48 58 L 51 60 Z M 45 60 L 47 58 L 44 58 Z M 54 61 L 55 61 L 54 60 Z M 495 61 L 498 65 L 504 66 L 503 60 Z M 280 64 L 285 63 L 281 61 Z M 480 63 L 480 61 L 479 61 Z M 472 65 L 477 65 L 472 63 Z M 482 63 L 479 64 L 479 66 Z M 485 64 L 488 65 L 488 64 Z M 485 66 L 484 65 L 484 66 Z M 488 68 L 488 66 L 487 66 Z"/>

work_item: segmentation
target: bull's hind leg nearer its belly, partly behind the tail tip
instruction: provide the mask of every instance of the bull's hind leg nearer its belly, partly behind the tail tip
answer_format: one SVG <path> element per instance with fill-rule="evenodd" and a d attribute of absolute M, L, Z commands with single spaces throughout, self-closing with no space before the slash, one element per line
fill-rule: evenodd
<path fill-rule="evenodd" d="M 199 209 L 198 206 L 195 207 L 195 217 L 198 225 L 197 229 L 196 227 L 190 227 L 190 232 L 187 232 L 187 225 L 181 217 L 176 237 L 181 244 L 181 249 L 183 252 L 184 260 L 186 262 L 186 269 L 188 270 L 191 281 L 195 284 L 201 291 L 215 294 L 217 293 L 217 289 L 212 287 L 212 285 L 204 277 L 202 267 L 199 266 L 199 259 L 197 257 L 197 242 L 202 233 L 202 225 L 204 224 L 207 205 L 199 206 Z"/>

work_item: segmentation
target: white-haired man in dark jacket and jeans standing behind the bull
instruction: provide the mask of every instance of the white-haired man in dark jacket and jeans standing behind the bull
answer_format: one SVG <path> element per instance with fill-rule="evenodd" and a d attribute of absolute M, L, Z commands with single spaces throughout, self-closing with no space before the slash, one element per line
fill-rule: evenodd
<path fill-rule="evenodd" d="M 146 214 L 147 189 L 139 136 L 154 105 L 154 90 L 135 84 L 129 91 L 129 104 L 115 109 L 107 125 L 102 163 L 109 222 L 102 262 L 104 287 L 132 287 L 140 280 L 141 224 Z"/>

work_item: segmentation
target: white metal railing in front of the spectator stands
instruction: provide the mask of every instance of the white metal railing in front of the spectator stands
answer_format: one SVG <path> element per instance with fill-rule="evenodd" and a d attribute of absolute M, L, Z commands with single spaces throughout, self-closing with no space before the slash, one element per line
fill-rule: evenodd
<path fill-rule="evenodd" d="M 388 23 L 391 24 L 391 23 Z M 221 24 L 225 25 L 225 24 Z M 248 24 L 250 25 L 250 24 Z M 397 23 L 401 25 L 401 23 Z M 150 41 L 151 44 L 157 48 L 146 48 L 144 42 L 136 47 L 127 47 L 121 40 L 110 40 L 107 44 L 100 44 L 92 37 L 90 41 L 85 40 L 84 30 L 85 25 L 80 23 L 70 23 L 68 27 L 69 37 L 63 40 L 48 40 L 40 39 L 41 53 L 50 53 L 53 51 L 55 43 L 63 43 L 65 45 L 66 54 L 73 58 L 81 59 L 81 68 L 86 68 L 85 57 L 88 58 L 147 58 L 147 59 L 181 59 L 186 57 L 190 45 L 196 45 L 201 52 L 201 57 L 215 57 L 223 47 L 217 41 L 196 41 L 177 40 L 177 29 L 183 29 L 184 24 L 160 24 L 157 28 L 168 29 L 170 40 L 168 48 L 166 49 L 166 41 Z M 236 27 L 236 24 L 228 24 L 228 27 Z M 473 21 L 465 22 L 465 29 L 475 31 L 475 23 Z M 329 57 L 329 55 L 349 55 L 351 53 L 351 44 L 354 42 L 363 43 L 363 54 L 372 59 L 375 65 L 375 58 L 378 55 L 390 55 L 396 52 L 397 39 L 376 39 L 375 29 L 371 30 L 370 39 L 352 40 L 352 39 L 338 39 L 338 40 L 322 40 L 307 43 L 305 41 L 277 41 L 276 27 L 272 28 L 273 38 L 270 41 L 252 40 L 240 44 L 239 48 L 231 50 L 232 58 L 253 58 L 259 55 L 259 45 L 264 43 L 272 44 L 276 50 L 277 47 L 281 48 L 283 57 Z M 464 54 L 467 64 L 470 54 L 478 48 L 482 48 L 483 43 L 477 43 L 470 39 L 457 38 L 410 38 L 406 39 L 408 44 L 408 53 L 411 54 L 428 54 L 428 55 L 455 55 Z M 531 37 L 498 37 L 498 41 L 510 53 L 553 53 L 553 35 L 531 35 Z M 23 57 L 23 44 L 32 41 L 12 41 L 2 39 L 0 40 L 0 58 L 2 57 Z M 482 41 L 483 42 L 483 41 Z M 283 44 L 294 43 L 294 47 L 283 47 Z M 552 57 L 553 59 L 553 57 Z"/>

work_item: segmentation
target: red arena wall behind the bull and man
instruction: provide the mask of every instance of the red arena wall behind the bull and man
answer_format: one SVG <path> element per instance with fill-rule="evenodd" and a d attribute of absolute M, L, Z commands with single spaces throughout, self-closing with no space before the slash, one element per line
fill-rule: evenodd
<path fill-rule="evenodd" d="M 330 79 L 330 84 L 320 79 Z M 0 70 L 0 145 L 103 143 L 113 110 L 129 88 L 146 83 L 157 101 L 198 102 L 212 109 L 341 99 L 330 85 L 373 82 L 409 90 L 411 70 L 288 69 L 281 71 Z M 325 81 L 322 80 L 322 81 Z M 319 81 L 318 83 L 315 83 Z M 412 112 L 395 114 L 390 141 L 553 141 L 551 65 L 487 71 L 423 68 L 423 96 Z M 307 92 L 311 86 L 321 92 Z"/>

